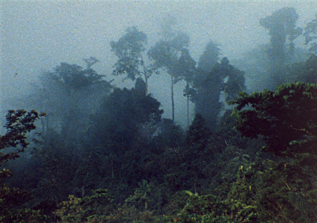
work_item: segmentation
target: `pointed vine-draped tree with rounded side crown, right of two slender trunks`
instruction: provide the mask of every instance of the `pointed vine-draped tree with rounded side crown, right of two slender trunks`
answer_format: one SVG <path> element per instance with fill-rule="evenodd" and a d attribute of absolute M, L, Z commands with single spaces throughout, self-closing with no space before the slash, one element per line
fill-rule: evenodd
<path fill-rule="evenodd" d="M 195 103 L 195 113 L 202 115 L 212 131 L 217 129 L 217 117 L 224 108 L 223 102 L 219 101 L 221 91 L 228 101 L 245 89 L 244 72 L 230 65 L 226 57 L 221 63 L 218 63 L 219 59 L 220 49 L 210 41 L 199 58 L 190 91 L 191 100 Z M 225 78 L 228 79 L 226 83 Z"/>

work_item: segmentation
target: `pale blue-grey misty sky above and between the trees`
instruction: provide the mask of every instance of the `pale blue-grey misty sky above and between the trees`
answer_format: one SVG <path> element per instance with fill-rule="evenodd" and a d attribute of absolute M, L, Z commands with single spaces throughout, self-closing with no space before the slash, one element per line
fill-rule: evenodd
<path fill-rule="evenodd" d="M 149 46 L 158 40 L 159 25 L 167 15 L 190 34 L 191 55 L 198 59 L 210 40 L 220 44 L 222 55 L 235 60 L 243 51 L 267 43 L 268 32 L 259 19 L 282 7 L 294 7 L 303 27 L 314 18 L 317 1 L 1 1 L 0 110 L 3 98 L 25 94 L 36 76 L 61 62 L 84 65 L 95 56 L 93 68 L 107 80 L 116 57 L 110 41 L 117 41 L 128 26 L 148 35 Z M 301 44 L 299 41 L 297 44 Z M 18 73 L 16 76 L 15 74 Z M 123 86 L 121 77 L 115 81 Z M 170 117 L 169 79 L 151 77 L 149 92 Z M 185 98 L 176 93 L 176 113 Z M 2 108 L 1 108 L 2 107 Z M 1 117 L 1 119 L 3 119 Z M 177 121 L 177 115 L 176 115 Z"/>

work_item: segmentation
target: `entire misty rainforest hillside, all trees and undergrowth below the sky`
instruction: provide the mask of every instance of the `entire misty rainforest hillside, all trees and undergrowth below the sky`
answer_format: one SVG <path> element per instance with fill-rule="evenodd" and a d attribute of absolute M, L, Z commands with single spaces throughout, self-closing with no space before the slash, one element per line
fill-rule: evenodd
<path fill-rule="evenodd" d="M 316 222 L 317 17 L 297 19 L 293 8 L 260 19 L 270 42 L 235 65 L 212 40 L 195 61 L 173 17 L 153 46 L 128 27 L 109 44 L 132 88 L 98 74 L 96 57 L 39 74 L 12 103 L 35 110 L 6 116 L 0 222 Z M 163 74 L 170 119 L 149 92 Z"/>

